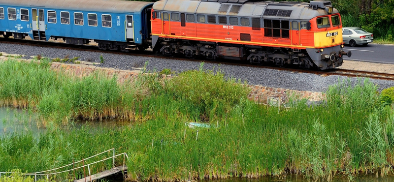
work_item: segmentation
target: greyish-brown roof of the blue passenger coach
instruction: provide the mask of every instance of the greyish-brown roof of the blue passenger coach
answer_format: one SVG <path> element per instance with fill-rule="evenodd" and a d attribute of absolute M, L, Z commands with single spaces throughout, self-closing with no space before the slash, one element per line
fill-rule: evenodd
<path fill-rule="evenodd" d="M 1 5 L 99 12 L 141 12 L 153 2 L 129 0 L 0 0 Z"/>

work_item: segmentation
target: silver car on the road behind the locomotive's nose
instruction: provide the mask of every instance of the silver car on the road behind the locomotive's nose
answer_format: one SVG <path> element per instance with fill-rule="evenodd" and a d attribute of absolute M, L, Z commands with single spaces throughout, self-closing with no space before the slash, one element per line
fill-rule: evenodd
<path fill-rule="evenodd" d="M 373 34 L 357 27 L 342 28 L 343 43 L 354 47 L 356 45 L 366 46 L 373 42 Z"/>

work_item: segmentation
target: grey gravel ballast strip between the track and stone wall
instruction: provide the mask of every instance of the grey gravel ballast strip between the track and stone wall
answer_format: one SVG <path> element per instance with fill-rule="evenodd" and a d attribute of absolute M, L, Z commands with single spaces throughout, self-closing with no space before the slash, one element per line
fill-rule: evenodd
<path fill-rule="evenodd" d="M 38 47 L 19 44 L 0 43 L 0 52 L 8 54 L 25 55 L 24 59 L 31 59 L 31 56 L 42 55 L 48 58 L 63 59 L 68 56 L 69 59 L 79 57 L 80 61 L 90 61 L 100 63 L 102 55 L 103 62 L 96 64 L 99 67 L 110 67 L 122 70 L 133 70 L 135 67 L 143 67 L 146 64 L 148 71 L 162 71 L 170 69 L 175 73 L 186 70 L 198 69 L 198 61 L 181 61 L 174 59 L 159 59 L 141 56 L 130 56 L 112 53 L 99 53 L 92 51 L 78 51 L 51 47 Z M 204 69 L 220 69 L 228 78 L 246 81 L 249 85 L 262 85 L 273 88 L 283 88 L 298 91 L 327 91 L 328 86 L 337 84 L 338 81 L 349 79 L 352 84 L 356 84 L 360 78 L 347 78 L 344 76 L 320 76 L 309 73 L 294 73 L 290 71 L 281 71 L 269 68 L 256 68 L 248 66 L 235 66 L 228 64 L 204 63 Z M 370 79 L 376 84 L 381 91 L 383 89 L 394 87 L 393 81 Z"/>

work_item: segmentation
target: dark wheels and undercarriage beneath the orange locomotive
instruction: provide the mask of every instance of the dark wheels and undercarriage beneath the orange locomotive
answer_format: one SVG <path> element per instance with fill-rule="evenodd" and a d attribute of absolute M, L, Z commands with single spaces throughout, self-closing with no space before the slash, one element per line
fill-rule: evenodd
<path fill-rule="evenodd" d="M 160 52 L 165 56 L 183 54 L 186 58 L 202 57 L 248 61 L 252 64 L 273 63 L 278 66 L 298 65 L 301 68 L 314 66 L 305 50 L 275 48 L 252 45 L 225 44 L 181 39 L 162 39 Z"/>

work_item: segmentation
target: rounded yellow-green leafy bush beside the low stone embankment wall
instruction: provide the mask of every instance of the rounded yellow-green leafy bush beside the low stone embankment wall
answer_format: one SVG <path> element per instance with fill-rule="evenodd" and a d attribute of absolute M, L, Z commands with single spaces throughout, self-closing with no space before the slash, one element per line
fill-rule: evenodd
<path fill-rule="evenodd" d="M 189 70 L 180 73 L 169 80 L 167 90 L 177 98 L 185 98 L 200 110 L 201 120 L 207 121 L 213 116 L 219 116 L 246 98 L 250 90 L 246 83 L 226 79 L 219 70 L 204 71 L 201 63 L 199 70 Z"/>

